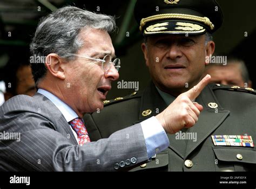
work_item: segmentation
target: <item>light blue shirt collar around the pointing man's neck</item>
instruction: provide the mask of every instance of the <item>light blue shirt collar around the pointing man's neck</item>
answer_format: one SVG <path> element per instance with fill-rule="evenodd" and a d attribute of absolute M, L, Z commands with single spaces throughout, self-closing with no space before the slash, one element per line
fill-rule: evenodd
<path fill-rule="evenodd" d="M 59 109 L 59 111 L 62 113 L 62 115 L 65 117 L 67 122 L 70 122 L 71 120 L 78 117 L 78 115 L 75 113 L 72 108 L 68 106 L 65 102 L 60 100 L 57 96 L 53 95 L 52 93 L 48 92 L 44 89 L 38 89 L 37 93 L 40 93 L 47 97 L 55 106 Z"/>

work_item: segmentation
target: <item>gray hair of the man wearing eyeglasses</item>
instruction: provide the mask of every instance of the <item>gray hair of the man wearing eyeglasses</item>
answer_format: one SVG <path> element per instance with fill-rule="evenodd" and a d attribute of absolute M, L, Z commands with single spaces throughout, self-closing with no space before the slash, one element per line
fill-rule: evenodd
<path fill-rule="evenodd" d="M 73 60 L 70 53 L 77 53 L 85 45 L 80 39 L 82 29 L 93 28 L 107 32 L 116 31 L 115 19 L 112 16 L 93 13 L 75 6 L 65 6 L 41 19 L 30 44 L 34 57 L 46 57 L 56 53 L 66 60 Z M 46 74 L 45 59 L 41 64 L 31 64 L 36 86 Z"/>

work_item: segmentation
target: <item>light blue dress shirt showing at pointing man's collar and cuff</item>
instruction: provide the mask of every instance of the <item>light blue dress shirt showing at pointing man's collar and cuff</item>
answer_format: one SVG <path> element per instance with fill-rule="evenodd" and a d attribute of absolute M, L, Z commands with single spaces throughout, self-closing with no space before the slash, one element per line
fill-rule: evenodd
<path fill-rule="evenodd" d="M 74 118 L 78 117 L 75 111 L 72 108 L 70 108 L 68 104 L 66 104 L 65 102 L 60 100 L 57 96 L 53 95 L 47 90 L 38 89 L 37 93 L 44 95 L 53 104 L 55 104 L 55 106 L 63 114 L 67 122 L 70 122 Z M 142 125 L 143 135 L 146 142 L 147 156 L 150 159 L 153 155 L 155 155 L 156 153 L 159 153 L 160 151 L 163 151 L 169 146 L 169 139 L 162 125 L 159 123 L 156 117 L 153 116 L 141 122 L 140 124 Z M 71 130 L 73 131 L 73 134 L 77 139 L 76 132 L 72 128 Z M 78 143 L 78 139 L 77 139 L 77 143 Z"/>

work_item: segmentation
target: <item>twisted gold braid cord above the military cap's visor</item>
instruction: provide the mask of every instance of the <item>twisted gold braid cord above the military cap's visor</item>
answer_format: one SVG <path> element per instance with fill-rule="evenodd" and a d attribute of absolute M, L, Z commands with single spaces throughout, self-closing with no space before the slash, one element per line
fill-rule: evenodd
<path fill-rule="evenodd" d="M 159 20 L 159 19 L 169 19 L 169 18 L 187 19 L 187 20 L 203 22 L 204 24 L 210 26 L 211 30 L 214 29 L 214 25 L 212 24 L 210 19 L 207 17 L 170 13 L 170 14 L 154 15 L 154 16 L 150 16 L 147 18 L 143 18 L 142 20 L 140 20 L 139 30 L 142 31 L 142 27 L 145 26 L 147 22 L 151 22 L 151 21 Z"/>

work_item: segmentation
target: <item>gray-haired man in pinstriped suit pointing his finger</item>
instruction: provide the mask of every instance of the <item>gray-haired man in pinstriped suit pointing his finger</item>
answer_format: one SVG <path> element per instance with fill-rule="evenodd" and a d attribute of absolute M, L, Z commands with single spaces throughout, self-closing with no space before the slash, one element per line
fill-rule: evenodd
<path fill-rule="evenodd" d="M 103 108 L 119 77 L 108 33 L 114 29 L 113 17 L 73 6 L 41 20 L 30 45 L 37 93 L 12 97 L 0 108 L 1 171 L 131 169 L 169 146 L 166 133 L 197 122 L 203 107 L 192 101 L 210 76 L 156 117 L 90 142 L 82 117 Z"/>

